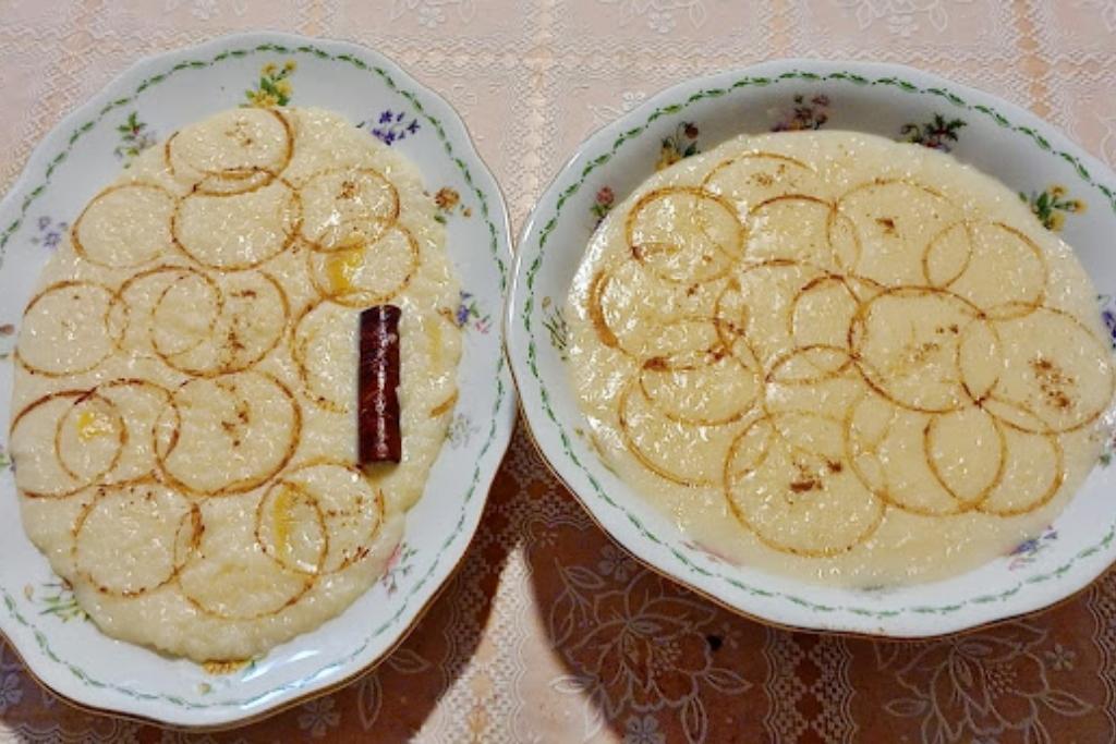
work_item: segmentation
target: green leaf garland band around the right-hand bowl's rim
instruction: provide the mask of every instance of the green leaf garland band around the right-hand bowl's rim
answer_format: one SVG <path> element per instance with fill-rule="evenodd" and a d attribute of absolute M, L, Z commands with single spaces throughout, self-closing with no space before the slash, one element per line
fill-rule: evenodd
<path fill-rule="evenodd" d="M 600 482 L 593 475 L 591 472 L 589 472 L 589 470 L 585 466 L 585 464 L 574 452 L 571 446 L 573 441 L 569 434 L 562 427 L 561 423 L 558 421 L 558 416 L 555 414 L 555 410 L 550 405 L 550 393 L 547 390 L 546 385 L 542 381 L 542 376 L 539 373 L 538 345 L 531 318 L 532 312 L 535 310 L 535 294 L 533 294 L 535 282 L 538 277 L 538 272 L 542 267 L 543 257 L 546 255 L 547 241 L 549 240 L 550 234 L 554 232 L 554 230 L 558 226 L 558 221 L 561 216 L 562 207 L 565 206 L 566 202 L 569 201 L 571 196 L 574 196 L 574 194 L 580 191 L 581 186 L 585 185 L 585 182 L 588 180 L 589 175 L 593 174 L 594 171 L 596 171 L 604 164 L 608 163 L 613 158 L 613 155 L 615 155 L 620 149 L 620 147 L 624 146 L 625 143 L 645 133 L 651 127 L 651 125 L 654 124 L 657 119 L 664 116 L 680 114 L 692 104 L 709 98 L 720 98 L 721 96 L 725 96 L 739 88 L 768 87 L 788 80 L 807 80 L 812 83 L 838 80 L 841 83 L 847 83 L 850 85 L 856 85 L 862 87 L 882 85 L 882 86 L 891 86 L 908 94 L 932 95 L 943 98 L 956 108 L 983 115 L 1004 129 L 1018 132 L 1027 136 L 1028 138 L 1033 141 L 1035 144 L 1040 149 L 1048 152 L 1051 155 L 1069 163 L 1070 166 L 1072 166 L 1074 171 L 1076 172 L 1077 176 L 1081 181 L 1087 183 L 1089 186 L 1093 186 L 1107 197 L 1109 206 L 1112 207 L 1113 212 L 1116 213 L 1116 191 L 1106 186 L 1105 184 L 1095 181 L 1093 175 L 1089 173 L 1088 168 L 1085 167 L 1085 164 L 1081 163 L 1081 161 L 1076 155 L 1065 151 L 1056 149 L 1048 139 L 1046 139 L 1033 128 L 1013 124 L 1006 116 L 1000 114 L 991 106 L 987 106 L 983 104 L 970 104 L 961 96 L 958 96 L 953 91 L 947 90 L 941 86 L 923 88 L 907 80 L 903 80 L 902 78 L 898 78 L 896 76 L 870 78 L 847 70 L 845 71 L 839 70 L 828 74 L 809 73 L 804 70 L 788 70 L 786 73 L 781 73 L 772 77 L 763 77 L 763 76 L 742 77 L 729 86 L 705 88 L 702 90 L 698 90 L 687 96 L 681 103 L 673 103 L 660 106 L 655 108 L 647 116 L 647 118 L 644 120 L 643 124 L 622 132 L 613 141 L 612 147 L 608 149 L 608 152 L 603 153 L 594 157 L 593 160 L 588 161 L 581 168 L 578 180 L 575 183 L 562 189 L 561 192 L 559 192 L 558 200 L 555 204 L 554 214 L 550 216 L 549 220 L 547 220 L 547 222 L 539 230 L 538 252 L 535 255 L 533 261 L 531 262 L 530 267 L 527 269 L 527 272 L 525 274 L 525 279 L 527 281 L 527 293 L 522 302 L 520 317 L 523 323 L 523 329 L 526 330 L 528 337 L 527 366 L 531 370 L 531 375 L 535 377 L 536 381 L 539 385 L 539 400 L 542 404 L 542 409 L 546 412 L 547 417 L 558 429 L 558 437 L 561 441 L 562 450 L 566 456 L 570 460 L 570 462 L 577 465 L 577 467 L 585 474 L 589 484 L 593 486 L 595 495 L 598 499 L 604 501 L 613 509 L 619 511 L 643 538 L 650 540 L 651 542 L 655 543 L 661 548 L 666 548 L 667 550 L 670 550 L 671 554 L 685 568 L 705 578 L 720 579 L 721 581 L 724 581 L 729 586 L 739 589 L 741 591 L 744 591 L 752 597 L 762 597 L 766 599 L 782 599 L 804 609 L 812 610 L 815 612 L 820 612 L 820 613 L 848 612 L 850 615 L 856 615 L 859 617 L 881 618 L 881 619 L 894 618 L 901 615 L 937 615 L 937 616 L 947 615 L 971 605 L 988 605 L 990 602 L 1003 601 L 1019 593 L 1026 586 L 1043 583 L 1046 581 L 1050 581 L 1051 579 L 1056 579 L 1064 576 L 1079 560 L 1088 558 L 1089 555 L 1094 555 L 1100 550 L 1107 549 L 1109 545 L 1112 545 L 1113 541 L 1116 540 L 1116 522 L 1109 525 L 1108 531 L 1097 543 L 1083 548 L 1074 557 L 1071 557 L 1069 560 L 1058 566 L 1057 568 L 1054 568 L 1045 573 L 1038 573 L 1028 577 L 1017 582 L 1010 589 L 1006 589 L 1004 591 L 980 595 L 971 599 L 965 599 L 960 602 L 954 602 L 952 605 L 939 605 L 939 606 L 917 605 L 899 609 L 887 609 L 887 610 L 868 609 L 864 607 L 822 605 L 795 593 L 770 591 L 767 589 L 761 589 L 759 587 L 753 587 L 734 577 L 725 576 L 724 573 L 721 573 L 719 571 L 712 571 L 703 566 L 699 566 L 693 560 L 691 560 L 689 555 L 680 551 L 677 548 L 667 545 L 662 538 L 650 531 L 638 516 L 633 514 L 626 508 L 617 503 L 615 499 L 609 496 L 608 493 L 605 491 L 605 489 L 600 485 Z M 522 250 L 522 247 L 520 247 L 520 250 Z"/>

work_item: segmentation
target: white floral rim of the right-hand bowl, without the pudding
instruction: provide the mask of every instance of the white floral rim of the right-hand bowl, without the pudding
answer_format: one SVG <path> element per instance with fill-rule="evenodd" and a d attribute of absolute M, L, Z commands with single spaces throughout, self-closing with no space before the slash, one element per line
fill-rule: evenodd
<path fill-rule="evenodd" d="M 937 117 L 941 117 L 940 119 Z M 675 86 L 590 136 L 539 201 L 516 257 L 507 312 L 512 373 L 543 453 L 600 525 L 637 558 L 739 612 L 797 628 L 933 636 L 1030 612 L 1072 595 L 1116 558 L 1116 466 L 1101 462 L 1043 533 L 963 576 L 854 591 L 738 567 L 693 545 L 603 466 L 564 363 L 561 309 L 599 215 L 657 163 L 743 132 L 837 128 L 951 148 L 1032 202 L 1116 292 L 1116 177 L 1054 127 L 988 94 L 906 67 L 775 61 Z M 1057 186 L 1057 187 L 1056 187 Z M 1075 201 L 1076 200 L 1076 201 Z M 1077 209 L 1077 202 L 1087 209 Z M 1099 298 L 1109 330 L 1116 315 Z"/>

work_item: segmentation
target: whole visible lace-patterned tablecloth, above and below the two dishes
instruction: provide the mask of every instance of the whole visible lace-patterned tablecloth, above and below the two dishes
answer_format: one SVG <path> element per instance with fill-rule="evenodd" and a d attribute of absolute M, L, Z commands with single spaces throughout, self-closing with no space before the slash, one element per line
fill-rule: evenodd
<path fill-rule="evenodd" d="M 595 127 L 693 75 L 778 57 L 906 62 L 1116 162 L 1116 0 L 7 0 L 0 183 L 137 56 L 290 30 L 393 57 L 462 114 L 513 231 Z M 585 622 L 579 640 L 551 641 Z M 656 627 L 656 639 L 645 635 Z M 591 632 L 590 632 L 591 630 Z M 1116 573 L 1049 612 L 886 644 L 735 617 L 633 562 L 522 424 L 455 578 L 348 687 L 217 741 L 1112 742 Z M 175 742 L 75 711 L 0 645 L 0 740 Z"/>

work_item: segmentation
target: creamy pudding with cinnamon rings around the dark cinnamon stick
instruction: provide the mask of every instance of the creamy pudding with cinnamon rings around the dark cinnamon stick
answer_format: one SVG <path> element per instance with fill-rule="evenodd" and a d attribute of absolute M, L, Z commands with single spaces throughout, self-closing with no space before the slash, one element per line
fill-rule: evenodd
<path fill-rule="evenodd" d="M 456 399 L 434 215 L 365 131 L 257 108 L 173 134 L 81 211 L 27 305 L 10 451 L 29 537 L 103 629 L 249 658 L 383 576 Z M 365 473 L 356 321 L 381 302 L 407 308 L 407 457 Z"/>

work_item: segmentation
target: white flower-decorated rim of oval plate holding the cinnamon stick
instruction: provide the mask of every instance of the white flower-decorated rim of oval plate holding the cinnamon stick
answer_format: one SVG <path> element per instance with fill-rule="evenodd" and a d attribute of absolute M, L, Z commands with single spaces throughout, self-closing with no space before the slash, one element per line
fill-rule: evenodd
<path fill-rule="evenodd" d="M 294 71 L 283 69 L 288 60 Z M 277 66 L 270 76 L 262 73 L 268 64 Z M 461 560 L 511 435 L 516 403 L 499 322 L 511 252 L 499 189 L 442 98 L 382 55 L 349 44 L 250 33 L 161 55 L 132 67 L 55 127 L 0 203 L 0 356 L 11 354 L 16 337 L 8 323 L 18 323 L 66 223 L 135 151 L 269 86 L 289 86 L 290 105 L 323 106 L 360 122 L 369 137 L 419 165 L 431 193 L 446 187 L 459 194 L 442 214 L 466 290 L 458 310 L 464 352 L 450 437 L 407 514 L 385 579 L 340 617 L 223 675 L 112 640 L 84 620 L 23 535 L 8 457 L 0 457 L 0 629 L 36 677 L 86 707 L 179 726 L 225 726 L 369 668 L 402 640 Z M 11 383 L 12 367 L 4 364 L 4 422 Z"/>

